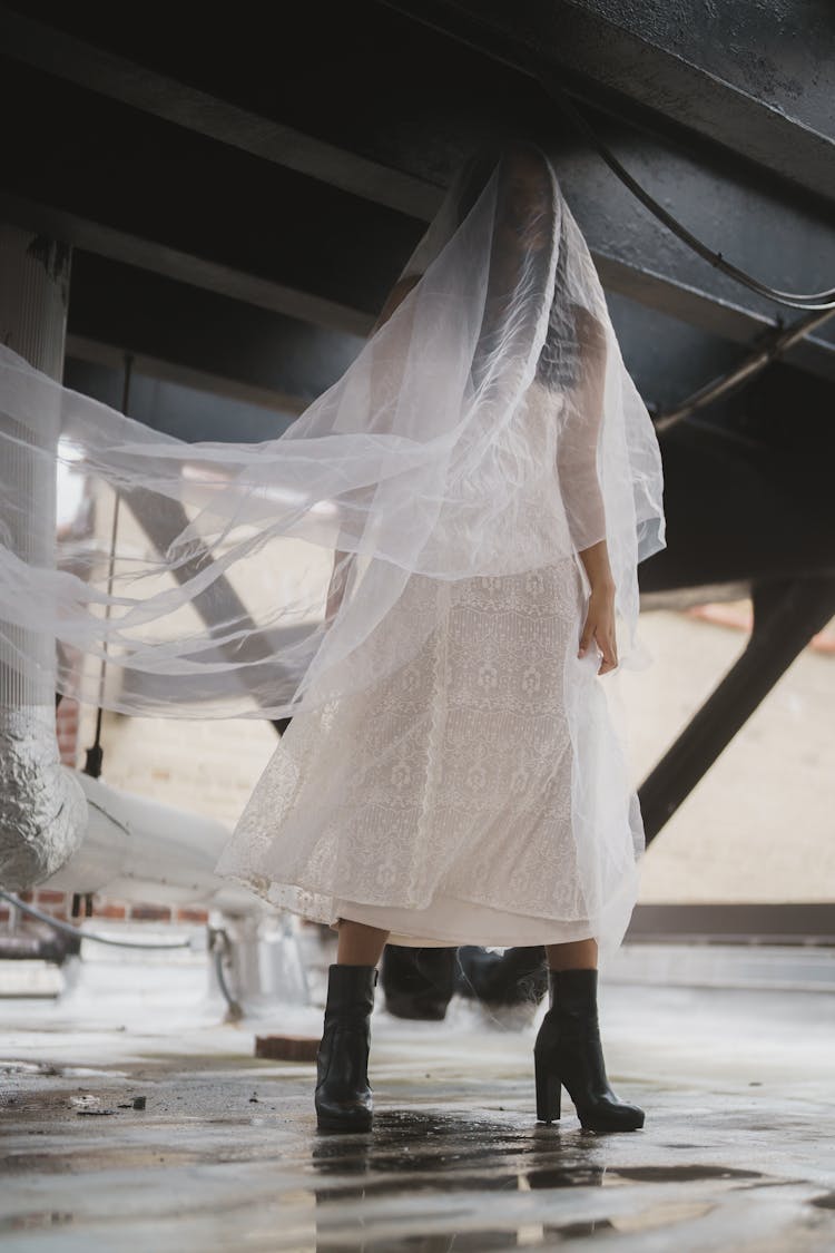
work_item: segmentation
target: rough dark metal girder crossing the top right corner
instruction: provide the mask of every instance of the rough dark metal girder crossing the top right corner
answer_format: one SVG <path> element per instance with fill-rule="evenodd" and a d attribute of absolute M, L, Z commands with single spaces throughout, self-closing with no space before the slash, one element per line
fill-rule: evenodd
<path fill-rule="evenodd" d="M 384 0 L 488 55 L 545 63 L 835 199 L 835 24 L 825 0 Z M 582 79 L 586 79 L 583 84 Z"/>

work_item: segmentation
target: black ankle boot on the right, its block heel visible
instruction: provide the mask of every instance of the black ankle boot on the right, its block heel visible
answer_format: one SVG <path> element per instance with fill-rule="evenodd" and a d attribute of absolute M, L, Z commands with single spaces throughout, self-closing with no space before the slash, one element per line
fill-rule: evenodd
<path fill-rule="evenodd" d="M 548 972 L 551 1009 L 533 1046 L 536 1116 L 541 1123 L 560 1118 L 561 1089 L 591 1131 L 635 1131 L 643 1126 L 643 1110 L 627 1105 L 608 1086 L 597 1024 L 597 971 Z"/>

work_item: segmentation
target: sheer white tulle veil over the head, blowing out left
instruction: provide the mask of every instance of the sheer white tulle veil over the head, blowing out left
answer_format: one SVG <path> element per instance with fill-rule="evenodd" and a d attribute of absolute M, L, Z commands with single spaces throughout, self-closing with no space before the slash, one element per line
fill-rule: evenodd
<path fill-rule="evenodd" d="M 433 589 L 601 539 L 621 665 L 645 664 L 658 445 L 548 157 L 474 154 L 407 278 L 344 375 L 255 445 L 163 435 L 0 348 L 0 664 L 56 650 L 59 692 L 129 714 L 288 717 L 404 665 L 443 626 Z M 56 502 L 54 561 L 34 559 Z M 387 633 L 409 580 L 426 611 Z"/>

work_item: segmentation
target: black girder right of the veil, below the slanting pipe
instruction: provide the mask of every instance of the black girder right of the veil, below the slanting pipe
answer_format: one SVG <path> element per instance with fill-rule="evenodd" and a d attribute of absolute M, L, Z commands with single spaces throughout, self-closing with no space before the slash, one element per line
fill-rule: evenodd
<path fill-rule="evenodd" d="M 831 415 L 831 385 L 777 365 L 662 432 L 667 548 L 641 591 L 835 575 Z"/>

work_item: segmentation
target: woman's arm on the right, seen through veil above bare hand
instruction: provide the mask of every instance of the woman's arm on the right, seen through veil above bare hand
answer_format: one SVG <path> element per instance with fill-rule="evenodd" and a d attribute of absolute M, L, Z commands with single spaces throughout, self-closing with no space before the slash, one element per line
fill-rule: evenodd
<path fill-rule="evenodd" d="M 597 471 L 603 421 L 606 331 L 587 308 L 576 304 L 576 383 L 565 391 L 557 442 L 557 475 L 571 539 L 582 553 L 606 539 L 606 512 Z"/>

